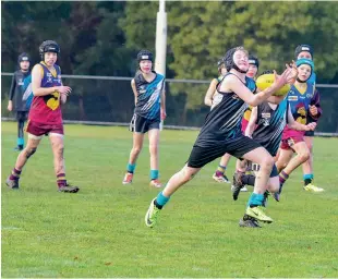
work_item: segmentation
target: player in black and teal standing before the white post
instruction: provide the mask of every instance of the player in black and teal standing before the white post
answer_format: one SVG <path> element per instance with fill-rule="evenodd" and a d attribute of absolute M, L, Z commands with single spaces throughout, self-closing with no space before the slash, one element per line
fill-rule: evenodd
<path fill-rule="evenodd" d="M 165 120 L 166 95 L 165 76 L 153 71 L 153 53 L 141 50 L 137 54 L 138 71 L 132 80 L 135 96 L 135 110 L 130 131 L 133 132 L 133 148 L 130 153 L 123 184 L 130 184 L 143 147 L 144 134 L 148 133 L 150 153 L 150 185 L 160 187 L 158 180 L 158 143 L 160 121 Z"/>

